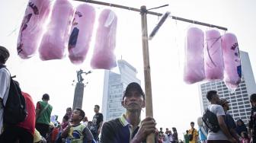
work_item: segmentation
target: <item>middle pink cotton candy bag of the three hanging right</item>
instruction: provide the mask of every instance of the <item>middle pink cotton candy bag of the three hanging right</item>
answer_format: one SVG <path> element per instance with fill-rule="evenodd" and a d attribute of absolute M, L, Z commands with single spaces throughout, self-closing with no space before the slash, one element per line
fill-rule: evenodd
<path fill-rule="evenodd" d="M 221 36 L 218 30 L 206 31 L 204 59 L 206 80 L 222 80 L 224 65 L 222 59 Z"/>

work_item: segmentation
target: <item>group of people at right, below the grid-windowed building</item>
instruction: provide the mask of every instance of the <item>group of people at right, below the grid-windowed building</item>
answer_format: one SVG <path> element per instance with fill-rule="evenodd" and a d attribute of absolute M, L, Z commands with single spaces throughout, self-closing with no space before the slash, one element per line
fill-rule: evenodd
<path fill-rule="evenodd" d="M 242 119 L 236 122 L 228 113 L 229 101 L 225 98 L 219 99 L 217 91 L 208 91 L 206 94 L 210 105 L 207 107 L 212 113 L 216 115 L 216 122 L 219 129 L 213 132 L 202 117 L 197 119 L 198 130 L 194 129 L 194 122 L 190 122 L 191 129 L 187 130 L 184 134 L 184 141 L 186 143 L 249 143 L 256 142 L 256 94 L 251 94 L 251 119 L 248 122 L 248 127 Z"/>

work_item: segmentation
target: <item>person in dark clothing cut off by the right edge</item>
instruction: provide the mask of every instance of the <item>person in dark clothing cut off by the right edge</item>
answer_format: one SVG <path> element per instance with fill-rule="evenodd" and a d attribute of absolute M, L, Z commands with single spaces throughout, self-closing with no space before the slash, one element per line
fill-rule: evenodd
<path fill-rule="evenodd" d="M 248 133 L 252 141 L 256 141 L 256 94 L 251 94 L 251 118 L 248 126 Z"/>

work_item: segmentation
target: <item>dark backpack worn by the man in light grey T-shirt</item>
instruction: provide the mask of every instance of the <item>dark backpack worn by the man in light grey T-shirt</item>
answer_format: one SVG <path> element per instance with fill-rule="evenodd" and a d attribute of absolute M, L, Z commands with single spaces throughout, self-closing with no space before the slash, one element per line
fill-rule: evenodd
<path fill-rule="evenodd" d="M 206 126 L 210 129 L 210 131 L 213 131 L 213 132 L 219 131 L 220 127 L 219 127 L 217 116 L 215 115 L 215 113 L 211 112 L 208 108 L 204 111 L 202 119 L 203 119 L 203 122 L 206 124 Z"/>

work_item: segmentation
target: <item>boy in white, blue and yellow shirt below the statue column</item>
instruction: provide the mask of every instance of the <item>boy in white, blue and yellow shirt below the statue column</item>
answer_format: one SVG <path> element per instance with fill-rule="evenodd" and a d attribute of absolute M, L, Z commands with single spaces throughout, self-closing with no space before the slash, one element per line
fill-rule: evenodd
<path fill-rule="evenodd" d="M 71 143 L 91 143 L 93 135 L 90 130 L 80 123 L 85 117 L 85 112 L 79 108 L 73 110 L 71 121 L 61 134 L 61 138 L 67 138 L 67 142 Z"/>

